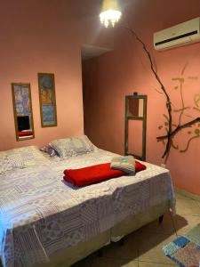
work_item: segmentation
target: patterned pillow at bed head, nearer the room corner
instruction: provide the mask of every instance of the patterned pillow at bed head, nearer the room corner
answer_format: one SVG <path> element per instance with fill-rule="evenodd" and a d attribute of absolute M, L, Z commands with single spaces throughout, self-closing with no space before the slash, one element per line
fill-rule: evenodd
<path fill-rule="evenodd" d="M 57 139 L 51 142 L 50 145 L 59 153 L 60 158 L 83 155 L 95 150 L 94 145 L 86 135 L 66 139 Z"/>

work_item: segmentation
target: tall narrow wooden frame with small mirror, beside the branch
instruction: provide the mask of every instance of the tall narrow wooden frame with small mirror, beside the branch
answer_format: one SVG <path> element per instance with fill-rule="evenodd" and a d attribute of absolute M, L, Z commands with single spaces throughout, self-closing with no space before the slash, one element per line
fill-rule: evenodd
<path fill-rule="evenodd" d="M 140 160 L 146 160 L 147 101 L 147 95 L 125 96 L 124 155 Z"/>

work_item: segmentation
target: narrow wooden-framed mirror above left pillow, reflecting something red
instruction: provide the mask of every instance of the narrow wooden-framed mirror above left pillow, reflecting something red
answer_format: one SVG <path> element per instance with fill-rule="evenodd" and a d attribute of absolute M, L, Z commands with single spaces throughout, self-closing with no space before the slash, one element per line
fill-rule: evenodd
<path fill-rule="evenodd" d="M 12 101 L 16 140 L 35 137 L 30 84 L 12 83 Z"/>

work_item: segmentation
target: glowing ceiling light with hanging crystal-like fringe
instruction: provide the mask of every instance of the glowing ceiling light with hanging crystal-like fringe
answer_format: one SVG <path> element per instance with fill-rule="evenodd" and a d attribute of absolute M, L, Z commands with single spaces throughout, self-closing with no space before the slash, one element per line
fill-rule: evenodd
<path fill-rule="evenodd" d="M 103 0 L 100 22 L 104 24 L 106 28 L 108 28 L 110 24 L 114 27 L 115 23 L 121 18 L 121 15 L 122 12 L 120 12 L 117 0 Z"/>

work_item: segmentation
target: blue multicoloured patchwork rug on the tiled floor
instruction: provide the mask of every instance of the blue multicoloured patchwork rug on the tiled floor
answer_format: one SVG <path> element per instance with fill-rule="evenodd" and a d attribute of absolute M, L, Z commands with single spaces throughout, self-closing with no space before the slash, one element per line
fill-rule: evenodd
<path fill-rule="evenodd" d="M 181 267 L 200 266 L 200 224 L 163 248 L 164 254 Z"/>

